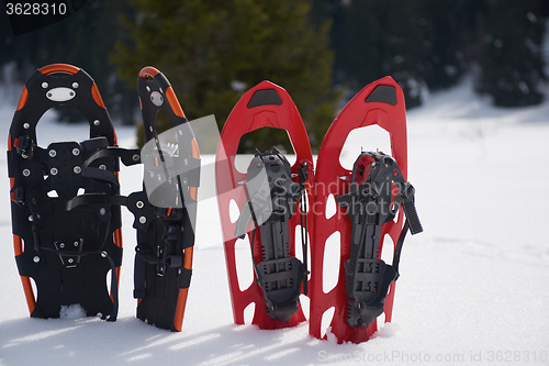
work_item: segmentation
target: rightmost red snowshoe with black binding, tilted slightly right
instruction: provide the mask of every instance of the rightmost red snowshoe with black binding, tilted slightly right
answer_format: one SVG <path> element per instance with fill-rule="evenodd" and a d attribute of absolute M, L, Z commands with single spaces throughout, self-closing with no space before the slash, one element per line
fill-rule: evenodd
<path fill-rule="evenodd" d="M 374 124 L 389 132 L 391 155 L 362 152 L 352 169 L 345 169 L 339 156 L 350 131 Z M 367 341 L 377 331 L 377 318 L 383 312 L 385 322 L 391 321 L 404 236 L 408 229 L 412 234 L 423 231 L 414 207 L 414 188 L 406 176 L 404 96 L 396 82 L 385 77 L 347 103 L 320 149 L 314 202 L 316 213 L 321 213 L 314 217 L 311 258 L 312 335 L 322 336 L 322 317 L 332 307 L 335 312 L 329 326 L 338 343 Z M 337 212 L 326 218 L 330 196 L 337 201 Z M 336 231 L 340 233 L 338 281 L 325 293 L 325 247 Z M 381 259 L 385 235 L 394 243 L 392 265 Z"/>

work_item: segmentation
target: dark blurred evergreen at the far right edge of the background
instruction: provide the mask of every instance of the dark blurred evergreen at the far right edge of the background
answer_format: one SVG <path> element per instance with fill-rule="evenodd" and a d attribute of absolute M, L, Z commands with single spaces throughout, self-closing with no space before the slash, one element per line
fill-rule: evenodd
<path fill-rule="evenodd" d="M 492 96 L 496 106 L 540 103 L 540 87 L 547 80 L 542 49 L 547 1 L 492 0 L 488 4 L 478 24 L 477 90 Z"/>

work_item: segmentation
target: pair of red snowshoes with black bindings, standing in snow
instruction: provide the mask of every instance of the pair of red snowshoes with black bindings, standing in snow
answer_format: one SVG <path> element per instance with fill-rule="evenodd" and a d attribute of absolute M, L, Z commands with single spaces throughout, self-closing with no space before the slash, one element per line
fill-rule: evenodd
<path fill-rule="evenodd" d="M 369 125 L 389 132 L 391 154 L 365 153 L 357 146 L 352 169 L 344 168 L 339 156 L 349 133 Z M 261 127 L 288 132 L 295 153 L 292 166 L 272 148 L 256 151 L 246 173 L 237 169 L 240 137 Z M 306 320 L 302 293 L 310 297 L 310 333 L 318 339 L 323 337 L 323 314 L 330 308 L 335 308 L 330 332 L 339 343 L 367 341 L 383 312 L 390 322 L 404 236 L 408 229 L 412 234 L 423 230 L 414 188 L 406 181 L 406 154 L 404 96 L 391 77 L 363 88 L 339 112 L 314 168 L 307 133 L 288 92 L 262 81 L 244 93 L 223 127 L 216 156 L 234 322 L 244 324 L 244 311 L 254 304 L 251 322 L 260 329 L 293 326 Z M 337 209 L 328 215 L 330 200 Z M 237 219 L 232 212 L 235 208 Z M 326 243 L 335 233 L 339 233 L 338 279 L 325 292 L 324 257 L 333 255 L 326 252 Z M 381 259 L 385 235 L 394 243 L 391 265 Z M 296 257 L 299 236 L 301 260 Z M 245 288 L 240 288 L 236 265 L 238 241 L 251 251 L 254 281 Z"/>

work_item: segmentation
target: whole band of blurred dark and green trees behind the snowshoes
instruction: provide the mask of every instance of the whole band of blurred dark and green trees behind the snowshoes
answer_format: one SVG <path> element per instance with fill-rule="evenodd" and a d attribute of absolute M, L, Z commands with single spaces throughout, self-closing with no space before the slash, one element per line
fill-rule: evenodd
<path fill-rule="evenodd" d="M 464 75 L 496 106 L 541 102 L 548 16 L 547 0 L 88 0 L 16 37 L 2 19 L 0 65 L 15 63 L 21 81 L 47 64 L 80 66 L 125 123 L 146 65 L 166 74 L 189 118 L 213 113 L 221 123 L 246 89 L 270 79 L 292 96 L 317 145 L 338 90 L 351 97 L 385 75 L 408 108 Z"/>

